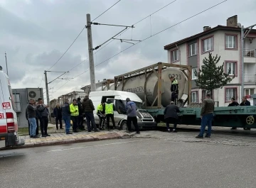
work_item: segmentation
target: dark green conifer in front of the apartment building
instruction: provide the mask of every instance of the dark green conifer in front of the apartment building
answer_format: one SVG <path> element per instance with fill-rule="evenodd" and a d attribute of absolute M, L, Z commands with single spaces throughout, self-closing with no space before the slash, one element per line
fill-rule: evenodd
<path fill-rule="evenodd" d="M 203 59 L 203 65 L 199 72 L 194 72 L 197 76 L 196 86 L 200 89 L 209 90 L 210 94 L 213 94 L 213 89 L 223 88 L 235 77 L 235 75 L 234 77 L 229 76 L 230 70 L 228 70 L 228 74 L 225 73 L 224 62 L 223 65 L 217 66 L 219 61 L 220 56 L 213 57 L 209 53 L 209 57 Z"/>

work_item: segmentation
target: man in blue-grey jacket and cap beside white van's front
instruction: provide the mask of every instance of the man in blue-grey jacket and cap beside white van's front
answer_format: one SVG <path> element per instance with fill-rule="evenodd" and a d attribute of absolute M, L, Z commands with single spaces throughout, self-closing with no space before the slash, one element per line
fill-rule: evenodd
<path fill-rule="evenodd" d="M 126 99 L 127 104 L 125 109 L 127 111 L 127 127 L 128 132 L 132 132 L 132 123 L 135 127 L 136 133 L 139 134 L 139 126 L 137 122 L 137 106 L 134 101 L 131 101 L 129 98 Z"/>

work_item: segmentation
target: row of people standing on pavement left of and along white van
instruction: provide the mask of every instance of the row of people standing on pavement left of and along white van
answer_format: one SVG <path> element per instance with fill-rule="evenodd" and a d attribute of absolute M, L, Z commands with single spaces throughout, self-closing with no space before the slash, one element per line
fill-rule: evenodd
<path fill-rule="evenodd" d="M 137 106 L 136 104 L 127 98 L 127 104 L 125 111 L 127 112 L 127 127 L 128 132 L 132 132 L 132 123 L 136 129 L 137 133 L 139 132 L 139 126 L 137 123 Z M 43 99 L 39 98 L 38 102 L 34 99 L 30 99 L 28 106 L 26 108 L 26 118 L 28 120 L 28 133 L 31 138 L 40 138 L 50 136 L 47 133 L 48 130 L 48 116 L 49 110 L 48 105 L 43 104 Z M 84 118 L 86 119 L 87 131 L 98 132 L 100 130 L 105 130 L 105 120 L 107 119 L 107 130 L 110 131 L 110 119 L 112 120 L 113 129 L 116 128 L 114 122 L 114 104 L 111 101 L 106 103 L 102 101 L 101 104 L 97 106 L 97 116 L 99 116 L 99 128 L 97 128 L 95 123 L 95 117 L 93 114 L 95 111 L 95 106 L 92 103 L 92 100 L 89 99 L 89 96 L 85 96 L 85 99 L 81 102 L 81 99 L 73 99 L 70 104 L 68 99 L 65 99 L 65 103 L 60 106 L 57 104 L 53 109 L 53 116 L 55 118 L 56 130 L 58 131 L 63 128 L 63 121 L 65 123 L 65 133 L 73 134 L 78 133 L 79 131 L 85 130 L 83 126 Z M 38 128 L 41 128 L 41 135 L 38 133 Z M 70 131 L 72 126 L 73 131 Z M 99 130 L 100 129 L 100 130 Z"/>

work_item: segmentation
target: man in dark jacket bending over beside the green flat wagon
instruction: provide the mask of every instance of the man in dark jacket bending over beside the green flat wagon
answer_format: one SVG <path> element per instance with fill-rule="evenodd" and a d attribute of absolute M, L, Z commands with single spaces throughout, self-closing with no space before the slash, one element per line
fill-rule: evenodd
<path fill-rule="evenodd" d="M 166 109 L 164 109 L 164 120 L 166 121 L 166 127 L 167 131 L 170 133 L 170 123 L 174 123 L 173 133 L 177 133 L 176 127 L 178 123 L 178 114 L 177 112 L 180 112 L 178 109 L 178 106 L 174 104 L 174 101 L 171 101 L 171 104 L 166 106 Z"/>

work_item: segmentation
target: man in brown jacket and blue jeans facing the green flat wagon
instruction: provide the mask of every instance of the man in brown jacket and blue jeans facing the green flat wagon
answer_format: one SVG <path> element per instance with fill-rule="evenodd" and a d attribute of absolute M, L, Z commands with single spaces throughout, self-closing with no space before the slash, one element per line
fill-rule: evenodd
<path fill-rule="evenodd" d="M 210 94 L 206 94 L 206 99 L 203 100 L 201 109 L 201 130 L 196 138 L 203 138 L 203 133 L 208 126 L 206 138 L 210 138 L 210 131 L 213 121 L 214 101 L 210 99 Z"/>

